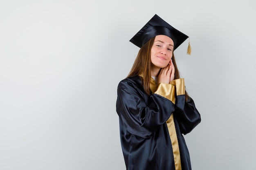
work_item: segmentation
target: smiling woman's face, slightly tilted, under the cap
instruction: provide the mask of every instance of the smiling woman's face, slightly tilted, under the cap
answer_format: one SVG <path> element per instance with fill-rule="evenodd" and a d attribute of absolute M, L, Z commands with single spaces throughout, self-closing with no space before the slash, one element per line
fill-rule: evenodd
<path fill-rule="evenodd" d="M 164 68 L 173 57 L 173 40 L 166 35 L 155 36 L 154 44 L 151 48 L 151 63 L 157 68 Z"/>

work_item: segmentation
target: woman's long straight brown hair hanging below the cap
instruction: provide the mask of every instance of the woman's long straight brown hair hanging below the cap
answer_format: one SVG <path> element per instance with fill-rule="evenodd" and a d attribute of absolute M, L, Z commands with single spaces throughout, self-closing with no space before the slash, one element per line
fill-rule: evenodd
<path fill-rule="evenodd" d="M 141 47 L 139 50 L 139 53 L 133 63 L 132 69 L 130 70 L 130 73 L 128 74 L 127 77 L 132 77 L 132 76 L 137 76 L 137 75 L 142 75 L 141 77 L 141 83 L 143 85 L 144 91 L 150 95 L 150 66 L 151 66 L 151 48 L 154 44 L 155 37 L 151 38 L 144 46 Z M 179 79 L 180 78 L 180 72 L 177 68 L 175 57 L 173 54 L 172 57 L 173 65 L 175 67 L 175 73 L 174 73 L 174 79 Z M 185 91 L 185 97 L 187 100 L 187 93 Z"/>

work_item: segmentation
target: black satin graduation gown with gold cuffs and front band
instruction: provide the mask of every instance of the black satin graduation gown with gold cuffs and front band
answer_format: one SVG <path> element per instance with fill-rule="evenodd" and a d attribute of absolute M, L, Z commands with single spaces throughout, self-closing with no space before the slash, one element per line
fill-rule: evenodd
<path fill-rule="evenodd" d="M 139 76 L 119 83 L 117 114 L 126 170 L 175 170 L 177 156 L 181 169 L 191 170 L 189 150 L 182 134 L 191 132 L 201 119 L 193 99 L 189 97 L 185 102 L 185 95 L 181 94 L 184 89 L 177 94 L 180 91 L 177 86 L 160 84 L 155 93 L 147 95 Z M 178 154 L 173 153 L 170 127 L 166 124 L 170 117 L 175 125 L 171 128 L 177 134 Z"/>

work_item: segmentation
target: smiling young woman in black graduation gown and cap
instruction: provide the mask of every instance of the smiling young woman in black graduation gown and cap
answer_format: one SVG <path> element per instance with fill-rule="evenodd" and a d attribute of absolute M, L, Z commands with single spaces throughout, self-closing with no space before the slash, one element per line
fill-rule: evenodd
<path fill-rule="evenodd" d="M 182 134 L 191 132 L 201 119 L 173 55 L 187 38 L 155 15 L 130 40 L 141 49 L 117 89 L 127 170 L 191 170 Z"/>

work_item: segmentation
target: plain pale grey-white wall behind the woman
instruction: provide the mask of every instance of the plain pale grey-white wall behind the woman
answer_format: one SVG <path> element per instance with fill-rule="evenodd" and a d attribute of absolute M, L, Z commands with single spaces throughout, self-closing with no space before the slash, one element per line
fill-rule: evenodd
<path fill-rule="evenodd" d="M 202 122 L 194 170 L 255 170 L 254 0 L 0 0 L 0 169 L 125 170 L 117 84 L 157 14 Z"/>

